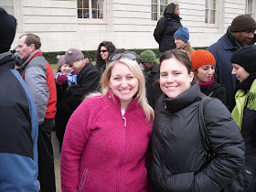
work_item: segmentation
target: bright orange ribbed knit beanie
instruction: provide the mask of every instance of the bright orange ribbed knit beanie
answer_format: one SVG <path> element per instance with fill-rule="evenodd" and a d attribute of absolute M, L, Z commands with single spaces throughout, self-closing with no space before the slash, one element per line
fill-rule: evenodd
<path fill-rule="evenodd" d="M 193 69 L 196 70 L 204 65 L 214 65 L 216 66 L 216 60 L 214 56 L 204 49 L 197 49 L 191 56 Z"/>

